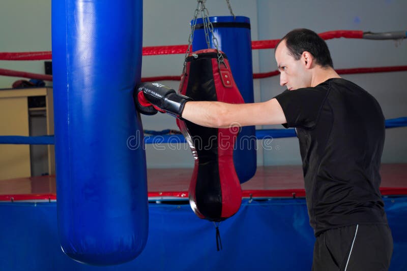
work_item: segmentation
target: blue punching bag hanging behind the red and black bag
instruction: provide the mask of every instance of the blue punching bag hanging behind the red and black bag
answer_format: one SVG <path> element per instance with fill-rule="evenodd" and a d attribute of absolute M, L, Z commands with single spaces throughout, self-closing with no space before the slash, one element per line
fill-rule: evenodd
<path fill-rule="evenodd" d="M 229 60 L 236 85 L 245 103 L 253 103 L 253 65 L 251 56 L 250 19 L 244 16 L 209 17 L 214 35 Z M 192 23 L 192 22 L 191 22 Z M 215 48 L 210 35 L 211 48 Z M 194 51 L 207 49 L 205 30 L 202 18 L 196 20 L 192 49 Z M 240 183 L 250 180 L 256 173 L 256 129 L 255 126 L 245 126 L 236 140 L 233 161 Z"/>

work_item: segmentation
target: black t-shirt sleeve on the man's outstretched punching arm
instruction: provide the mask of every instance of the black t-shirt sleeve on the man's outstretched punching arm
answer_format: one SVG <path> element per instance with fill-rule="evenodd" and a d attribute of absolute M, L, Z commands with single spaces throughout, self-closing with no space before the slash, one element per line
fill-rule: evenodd
<path fill-rule="evenodd" d="M 287 123 L 285 128 L 313 128 L 325 102 L 327 91 L 318 88 L 285 90 L 275 96 L 283 109 Z"/>

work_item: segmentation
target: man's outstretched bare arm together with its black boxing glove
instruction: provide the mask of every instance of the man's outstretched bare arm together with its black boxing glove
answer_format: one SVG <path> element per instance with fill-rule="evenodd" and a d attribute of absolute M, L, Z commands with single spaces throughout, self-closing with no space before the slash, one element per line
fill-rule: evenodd
<path fill-rule="evenodd" d="M 227 128 L 286 123 L 284 112 L 275 98 L 253 104 L 191 101 L 189 97 L 158 83 L 142 83 L 137 86 L 137 91 L 138 103 L 143 106 L 149 106 L 146 103 L 150 103 L 162 112 L 201 126 Z"/>

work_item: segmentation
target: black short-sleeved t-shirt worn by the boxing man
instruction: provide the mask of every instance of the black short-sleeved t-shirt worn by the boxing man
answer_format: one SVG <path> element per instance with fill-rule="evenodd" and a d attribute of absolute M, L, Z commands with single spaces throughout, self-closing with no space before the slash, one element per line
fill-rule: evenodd
<path fill-rule="evenodd" d="M 377 100 L 342 78 L 275 97 L 295 127 L 315 236 L 351 224 L 387 223 L 379 186 L 385 119 Z"/>

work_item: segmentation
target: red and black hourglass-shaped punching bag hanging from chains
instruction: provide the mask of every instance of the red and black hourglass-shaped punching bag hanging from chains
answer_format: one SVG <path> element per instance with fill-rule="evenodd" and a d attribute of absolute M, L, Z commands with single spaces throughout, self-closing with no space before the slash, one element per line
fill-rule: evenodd
<path fill-rule="evenodd" d="M 244 100 L 230 71 L 227 57 L 218 61 L 216 49 L 190 53 L 179 93 L 195 101 L 223 101 L 243 104 Z M 195 214 L 220 222 L 238 212 L 242 188 L 233 162 L 233 151 L 240 128 L 208 128 L 177 119 L 194 156 L 189 186 L 189 202 Z"/>

